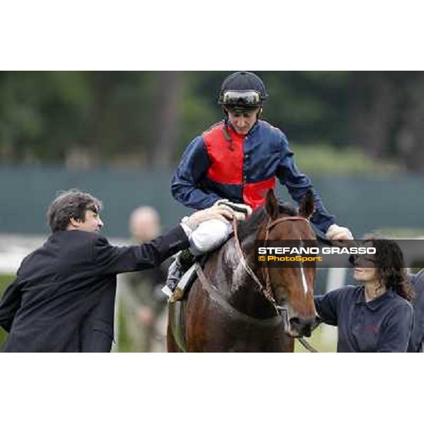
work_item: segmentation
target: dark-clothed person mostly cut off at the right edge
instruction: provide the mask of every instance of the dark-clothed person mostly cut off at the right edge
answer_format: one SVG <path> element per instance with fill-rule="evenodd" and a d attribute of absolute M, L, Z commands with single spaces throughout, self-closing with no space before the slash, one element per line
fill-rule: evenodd
<path fill-rule="evenodd" d="M 416 292 L 413 300 L 413 327 L 408 352 L 424 352 L 424 269 L 415 274 L 409 274 L 411 284 Z"/>

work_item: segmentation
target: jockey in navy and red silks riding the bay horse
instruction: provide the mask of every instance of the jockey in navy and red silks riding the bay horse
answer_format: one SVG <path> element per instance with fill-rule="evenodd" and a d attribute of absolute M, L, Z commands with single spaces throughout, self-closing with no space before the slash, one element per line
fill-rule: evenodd
<path fill-rule="evenodd" d="M 230 74 L 220 88 L 218 104 L 224 119 L 197 136 L 187 146 L 172 178 L 172 196 L 184 206 L 203 209 L 213 204 L 235 208 L 242 219 L 264 204 L 264 195 L 276 186 L 276 179 L 287 187 L 299 204 L 308 189 L 314 193 L 312 223 L 330 240 L 349 240 L 348 228 L 336 224 L 324 207 L 307 175 L 295 165 L 288 139 L 278 128 L 261 120 L 264 83 L 252 72 Z M 208 221 L 192 234 L 192 254 L 199 255 L 225 242 L 232 231 L 230 222 Z M 212 246 L 211 234 L 219 234 Z M 186 257 L 181 252 L 179 259 Z M 190 257 L 190 255 L 188 255 Z M 168 275 L 167 285 L 175 287 L 182 275 L 177 259 Z M 191 261 L 188 259 L 188 263 Z M 184 268 L 184 266 L 183 266 Z"/>

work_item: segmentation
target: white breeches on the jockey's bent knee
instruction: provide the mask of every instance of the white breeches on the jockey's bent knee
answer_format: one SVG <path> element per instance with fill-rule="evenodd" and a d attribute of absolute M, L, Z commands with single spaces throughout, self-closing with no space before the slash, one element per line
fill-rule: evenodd
<path fill-rule="evenodd" d="M 190 252 L 199 256 L 222 245 L 232 232 L 228 220 L 210 219 L 201 223 L 190 236 Z"/>

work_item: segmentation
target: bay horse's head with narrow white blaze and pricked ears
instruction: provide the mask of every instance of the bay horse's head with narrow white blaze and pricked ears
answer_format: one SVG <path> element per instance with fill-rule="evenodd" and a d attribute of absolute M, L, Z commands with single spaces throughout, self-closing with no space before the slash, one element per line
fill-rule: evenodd
<path fill-rule="evenodd" d="M 266 213 L 269 216 L 261 229 L 262 240 L 298 240 L 302 247 L 304 240 L 315 240 L 309 218 L 314 213 L 312 191 L 308 191 L 296 210 L 278 204 L 272 190 L 266 195 Z M 273 299 L 285 318 L 285 331 L 293 337 L 310 336 L 317 324 L 314 307 L 315 267 L 302 266 L 296 262 L 290 267 L 262 268 L 264 280 L 271 286 Z"/>

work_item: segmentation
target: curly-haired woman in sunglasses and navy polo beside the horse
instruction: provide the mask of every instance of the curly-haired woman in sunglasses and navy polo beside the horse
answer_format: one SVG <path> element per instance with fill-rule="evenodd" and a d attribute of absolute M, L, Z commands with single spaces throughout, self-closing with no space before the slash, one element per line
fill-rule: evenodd
<path fill-rule="evenodd" d="M 375 254 L 351 257 L 357 286 L 315 296 L 319 318 L 337 326 L 337 352 L 406 352 L 413 326 L 413 286 L 391 240 L 371 238 Z"/>

